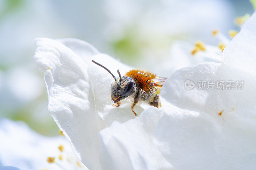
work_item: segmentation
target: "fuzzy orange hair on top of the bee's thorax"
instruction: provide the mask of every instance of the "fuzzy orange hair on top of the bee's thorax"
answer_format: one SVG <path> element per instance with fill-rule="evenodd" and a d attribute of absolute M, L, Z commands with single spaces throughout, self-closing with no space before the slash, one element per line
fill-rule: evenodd
<path fill-rule="evenodd" d="M 155 74 L 149 71 L 143 71 L 139 69 L 130 70 L 127 73 L 125 73 L 124 76 L 132 78 L 134 81 L 138 83 L 140 89 L 144 91 L 148 91 L 151 88 L 151 82 L 148 80 L 151 80 L 156 77 Z"/>

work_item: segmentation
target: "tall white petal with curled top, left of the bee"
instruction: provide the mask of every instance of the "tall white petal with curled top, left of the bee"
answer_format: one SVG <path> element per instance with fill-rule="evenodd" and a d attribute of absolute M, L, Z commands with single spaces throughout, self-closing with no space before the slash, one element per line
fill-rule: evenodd
<path fill-rule="evenodd" d="M 48 110 L 74 144 L 82 162 L 90 169 L 100 169 L 97 134 L 101 125 L 93 107 L 88 66 L 77 51 L 74 53 L 57 41 L 41 38 L 36 45 L 34 61 L 44 72 Z"/>

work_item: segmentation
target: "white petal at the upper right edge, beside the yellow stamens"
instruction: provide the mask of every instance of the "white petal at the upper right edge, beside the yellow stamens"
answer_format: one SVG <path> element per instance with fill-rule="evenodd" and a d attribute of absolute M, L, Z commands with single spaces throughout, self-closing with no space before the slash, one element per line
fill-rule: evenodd
<path fill-rule="evenodd" d="M 256 74 L 256 12 L 245 21 L 241 31 L 224 48 L 222 60 L 238 70 Z"/>

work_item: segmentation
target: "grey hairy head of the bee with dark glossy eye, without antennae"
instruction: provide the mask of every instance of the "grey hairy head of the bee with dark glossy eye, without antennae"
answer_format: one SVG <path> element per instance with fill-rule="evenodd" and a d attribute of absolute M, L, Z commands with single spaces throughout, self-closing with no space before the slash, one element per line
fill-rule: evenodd
<path fill-rule="evenodd" d="M 113 82 L 111 85 L 111 98 L 114 103 L 130 96 L 134 92 L 134 87 L 135 82 L 129 77 L 122 77 L 120 83 Z"/>

